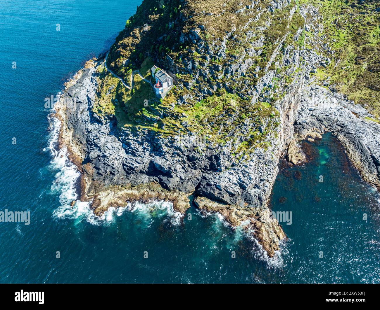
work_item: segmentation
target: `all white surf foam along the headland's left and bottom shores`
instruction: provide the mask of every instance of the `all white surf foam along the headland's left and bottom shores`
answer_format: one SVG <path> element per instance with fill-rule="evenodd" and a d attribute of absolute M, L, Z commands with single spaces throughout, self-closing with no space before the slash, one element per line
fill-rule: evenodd
<path fill-rule="evenodd" d="M 138 214 L 139 218 L 143 220 L 147 227 L 150 226 L 154 218 L 162 218 L 167 216 L 173 225 L 181 223 L 182 214 L 173 208 L 171 202 L 155 201 L 148 204 L 141 204 L 135 202 L 128 204 L 126 207 L 114 208 L 110 207 L 102 216 L 96 216 L 90 209 L 90 202 L 76 201 L 73 207 L 70 206 L 71 201 L 78 199 L 76 184 L 78 183 L 80 172 L 76 166 L 69 160 L 66 148 L 59 149 L 58 138 L 60 131 L 60 121 L 55 117 L 49 117 L 52 131 L 50 133 L 49 145 L 47 149 L 51 152 L 52 160 L 51 167 L 58 170 L 55 174 L 55 182 L 51 186 L 52 193 L 59 193 L 60 206 L 53 212 L 56 219 L 75 219 L 76 224 L 81 221 L 89 222 L 92 225 L 109 225 L 114 222 L 116 217 L 122 216 L 125 211 Z M 215 216 L 215 224 L 218 222 L 226 227 L 231 225 L 219 213 L 211 213 L 199 210 L 199 216 L 207 218 Z M 242 224 L 235 229 L 234 241 L 242 238 L 242 235 L 247 235 L 250 239 L 255 241 L 256 247 L 253 249 L 253 255 L 260 260 L 267 261 L 269 265 L 280 267 L 283 264 L 281 251 L 276 252 L 274 258 L 269 258 L 263 247 L 253 237 L 252 231 L 246 228 L 249 221 L 242 222 Z M 281 246 L 282 247 L 282 246 Z"/>

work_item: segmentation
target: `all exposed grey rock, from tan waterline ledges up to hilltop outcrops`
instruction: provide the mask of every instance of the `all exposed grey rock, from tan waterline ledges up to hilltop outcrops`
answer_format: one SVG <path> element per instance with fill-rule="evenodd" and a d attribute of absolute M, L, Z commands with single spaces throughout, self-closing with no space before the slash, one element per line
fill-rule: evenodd
<path fill-rule="evenodd" d="M 292 5 L 292 8 L 288 5 Z M 255 10 L 255 6 L 260 6 L 260 10 Z M 380 185 L 379 125 L 366 119 L 371 116 L 367 115 L 363 107 L 353 105 L 326 88 L 315 86 L 318 81 L 310 72 L 316 71 L 321 63 L 328 63 L 329 58 L 296 43 L 302 41 L 300 38 L 305 28 L 310 32 L 310 40 L 315 38 L 313 45 L 320 44 L 318 11 L 312 6 L 301 7 L 299 11 L 302 17 L 306 18 L 306 14 L 309 14 L 309 21 L 313 20 L 314 23 L 304 27 L 294 22 L 296 31 L 292 36 L 289 37 L 288 31 L 285 31 L 272 42 L 278 45 L 267 55 L 269 61 L 256 66 L 254 60 L 263 52 L 261 33 L 270 30 L 271 22 L 275 19 L 268 19 L 258 27 L 255 21 L 260 19 L 264 10 L 273 13 L 286 7 L 289 8 L 286 20 L 298 16 L 299 13 L 295 13 L 297 7 L 290 0 L 276 1 L 263 9 L 260 2 L 253 2 L 249 9 L 236 12 L 235 15 L 244 17 L 245 13 L 249 16 L 253 14 L 255 18 L 247 19 L 247 24 L 241 25 L 240 31 L 235 29 L 223 34 L 223 38 L 218 39 L 220 45 L 214 44 L 218 40 L 205 44 L 199 35 L 204 25 L 200 25 L 198 30 L 196 27 L 191 30 L 190 27 L 188 32 L 180 31 L 181 43 L 189 41 L 197 46 L 193 56 L 204 55 L 203 58 L 198 56 L 199 61 L 196 63 L 199 63 L 199 67 L 194 66 L 194 72 L 180 68 L 176 70 L 176 67 L 191 60 L 187 57 L 181 56 L 184 63 L 170 67 L 173 73 L 184 76 L 191 74 L 182 87 L 187 89 L 184 96 L 173 99 L 173 109 L 176 105 L 184 106 L 188 101 L 197 102 L 212 96 L 220 88 L 233 94 L 244 93 L 243 97 L 249 98 L 251 105 L 260 102 L 261 107 L 270 105 L 275 109 L 267 119 L 261 119 L 260 125 L 256 124 L 253 113 L 250 117 L 244 115 L 238 124 L 228 126 L 231 120 L 242 116 L 238 109 L 231 110 L 218 134 L 224 126 L 228 129 L 228 137 L 237 138 L 234 142 L 230 139 L 225 144 L 211 143 L 199 146 L 197 150 L 195 147 L 176 146 L 173 137 L 155 135 L 146 128 L 118 128 L 115 116 L 101 117 L 94 113 L 99 83 L 97 69 L 103 66 L 102 59 L 87 62 L 85 68 L 66 84 L 65 92 L 56 105 L 55 116 L 62 123 L 59 143 L 60 147 L 67 148 L 70 160 L 82 174 L 80 199 L 92 200 L 95 214 L 101 215 L 111 206 L 158 199 L 173 202 L 174 209 L 184 213 L 189 207 L 188 196 L 194 194 L 199 208 L 222 214 L 232 226 L 249 222 L 247 229 L 253 231 L 268 256 L 273 257 L 285 234 L 278 222 L 270 218 L 268 200 L 279 171 L 277 164 L 280 156 L 288 155 L 288 159 L 295 164 L 304 160 L 297 146 L 300 140 L 307 139 L 309 135 L 310 139 L 320 138 L 320 134 L 326 131 L 333 132 L 345 146 L 364 180 L 377 187 Z M 180 29 L 180 24 L 174 29 Z M 258 35 L 253 39 L 256 31 Z M 227 61 L 228 39 L 230 44 L 245 42 L 251 46 L 244 46 L 242 55 L 233 55 Z M 331 50 L 328 44 L 325 48 Z M 117 48 L 112 54 L 118 55 Z M 223 65 L 212 65 L 212 55 L 223 60 Z M 281 73 L 277 73 L 277 69 Z M 209 78 L 210 73 L 212 78 Z M 218 80 L 223 74 L 226 78 L 222 83 Z M 288 76 L 292 78 L 285 78 Z M 239 80 L 242 77 L 244 83 Z M 207 83 L 204 83 L 206 80 Z M 208 85 L 209 80 L 216 84 Z M 198 86 L 196 81 L 199 82 Z M 67 99 L 72 99 L 72 105 L 67 105 Z M 223 113 L 220 117 L 223 117 Z M 276 125 L 270 125 L 269 119 L 274 119 L 272 123 Z M 183 125 L 182 129 L 188 130 L 187 122 L 176 121 Z M 254 135 L 261 134 L 266 147 L 251 146 L 250 149 L 238 151 L 243 143 L 249 144 Z"/>

